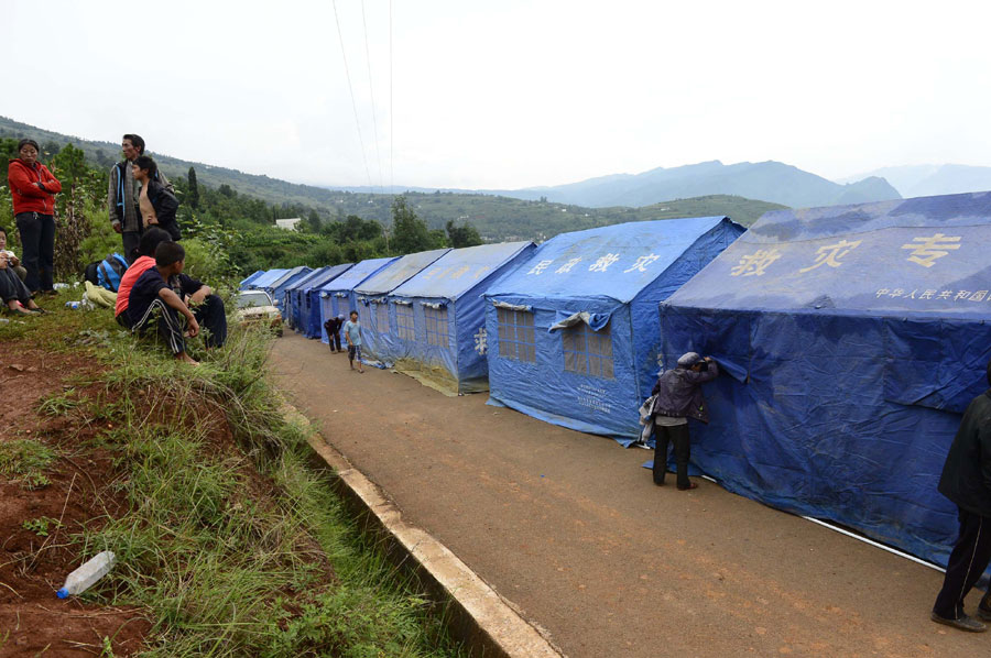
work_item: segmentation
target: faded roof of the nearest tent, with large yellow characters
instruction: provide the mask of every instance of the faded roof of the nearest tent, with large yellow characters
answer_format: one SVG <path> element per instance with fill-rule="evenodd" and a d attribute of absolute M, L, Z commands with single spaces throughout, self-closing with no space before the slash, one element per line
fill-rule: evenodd
<path fill-rule="evenodd" d="M 764 215 L 675 306 L 991 317 L 991 193 Z"/>

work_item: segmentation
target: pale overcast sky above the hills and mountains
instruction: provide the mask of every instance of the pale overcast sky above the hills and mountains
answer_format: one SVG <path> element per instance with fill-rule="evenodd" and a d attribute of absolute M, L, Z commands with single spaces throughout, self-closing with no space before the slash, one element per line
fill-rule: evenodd
<path fill-rule="evenodd" d="M 0 114 L 325 185 L 991 165 L 983 2 L 337 0 L 350 87 L 334 7 L 0 0 Z"/>

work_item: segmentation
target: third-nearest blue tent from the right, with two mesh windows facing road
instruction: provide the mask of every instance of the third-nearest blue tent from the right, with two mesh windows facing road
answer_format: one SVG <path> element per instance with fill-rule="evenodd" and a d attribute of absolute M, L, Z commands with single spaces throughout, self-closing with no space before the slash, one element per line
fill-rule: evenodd
<path fill-rule="evenodd" d="M 455 249 L 374 305 L 379 359 L 445 393 L 489 387 L 484 290 L 536 249 L 504 242 Z"/>

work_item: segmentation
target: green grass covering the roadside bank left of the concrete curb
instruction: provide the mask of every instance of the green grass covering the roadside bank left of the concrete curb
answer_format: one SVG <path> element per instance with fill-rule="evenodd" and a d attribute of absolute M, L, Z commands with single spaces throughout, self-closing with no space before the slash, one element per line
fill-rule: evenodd
<path fill-rule="evenodd" d="M 95 485 L 126 505 L 65 541 L 80 562 L 117 553 L 83 600 L 138 606 L 151 622 L 141 656 L 461 655 L 443 611 L 356 529 L 312 465 L 266 375 L 266 336 L 233 330 L 222 350 L 194 351 L 194 369 L 120 331 L 109 310 L 62 309 L 64 299 L 43 317 L 6 316 L 0 343 L 8 354 L 81 352 L 99 374 L 66 373 L 36 403 L 75 434 L 0 441 L 0 479 L 44 486 L 59 456 L 109 451 L 113 476 Z M 104 645 L 112 655 L 112 638 Z"/>

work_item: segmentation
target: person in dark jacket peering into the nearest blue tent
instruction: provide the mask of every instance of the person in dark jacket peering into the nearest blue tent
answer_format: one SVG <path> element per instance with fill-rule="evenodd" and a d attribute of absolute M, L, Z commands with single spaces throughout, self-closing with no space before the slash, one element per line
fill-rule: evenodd
<path fill-rule="evenodd" d="M 688 480 L 688 458 L 691 456 L 688 418 L 709 421 L 701 385 L 711 382 L 718 374 L 719 366 L 711 357 L 703 359 L 696 352 L 688 352 L 678 359 L 677 368 L 657 377 L 651 393 L 654 396 L 651 408 L 654 420 L 654 484 L 664 484 L 667 447 L 674 443 L 678 490 L 698 487 L 698 483 Z"/>

